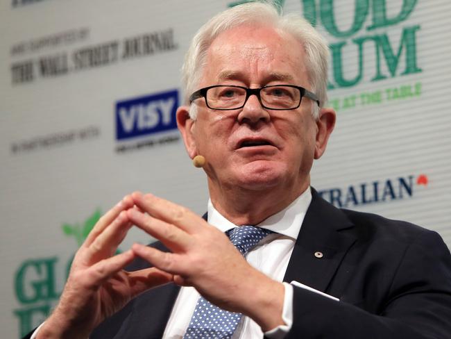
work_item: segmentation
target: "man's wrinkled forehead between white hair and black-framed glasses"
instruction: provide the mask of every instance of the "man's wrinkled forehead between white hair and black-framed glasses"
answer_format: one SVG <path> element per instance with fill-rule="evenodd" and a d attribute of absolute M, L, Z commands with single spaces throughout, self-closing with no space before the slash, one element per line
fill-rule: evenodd
<path fill-rule="evenodd" d="M 237 26 L 220 33 L 207 50 L 205 85 L 211 81 L 299 83 L 305 78 L 302 44 L 268 26 Z"/>

